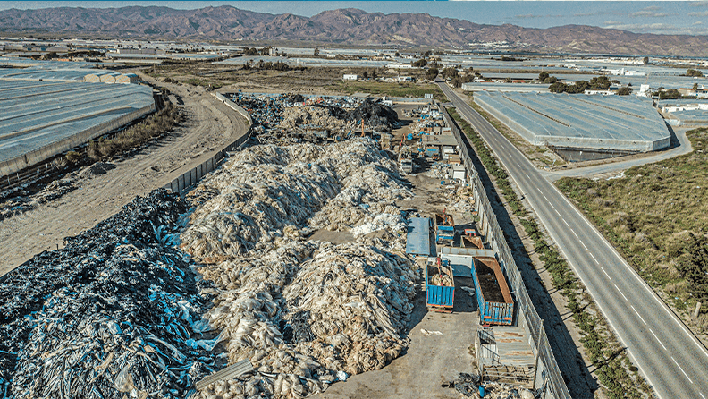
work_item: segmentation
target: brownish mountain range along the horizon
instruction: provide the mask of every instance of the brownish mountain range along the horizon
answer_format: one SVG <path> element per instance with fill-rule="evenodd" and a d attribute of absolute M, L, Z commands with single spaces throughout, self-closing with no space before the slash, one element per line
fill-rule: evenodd
<path fill-rule="evenodd" d="M 229 5 L 197 10 L 168 7 L 4 10 L 2 33 L 60 33 L 119 38 L 271 40 L 350 45 L 468 47 L 506 41 L 545 52 L 708 56 L 708 37 L 655 35 L 585 25 L 548 29 L 480 25 L 426 13 L 367 13 L 347 8 L 310 18 L 273 15 Z"/>

